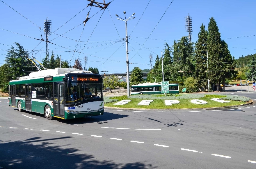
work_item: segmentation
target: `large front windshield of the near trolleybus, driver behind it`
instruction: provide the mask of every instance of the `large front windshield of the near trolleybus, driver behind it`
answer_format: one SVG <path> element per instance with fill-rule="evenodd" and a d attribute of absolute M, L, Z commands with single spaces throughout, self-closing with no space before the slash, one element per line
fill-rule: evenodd
<path fill-rule="evenodd" d="M 87 101 L 98 101 L 103 99 L 102 83 L 85 83 L 83 81 L 72 81 L 71 87 L 66 86 L 66 105 L 72 106 Z"/>

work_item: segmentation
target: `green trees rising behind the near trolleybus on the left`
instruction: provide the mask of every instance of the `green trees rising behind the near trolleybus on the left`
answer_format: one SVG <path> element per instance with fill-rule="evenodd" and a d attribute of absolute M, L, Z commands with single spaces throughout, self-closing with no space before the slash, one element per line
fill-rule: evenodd
<path fill-rule="evenodd" d="M 33 58 L 29 57 L 29 52 L 24 50 L 24 48 L 19 43 L 14 43 L 6 53 L 6 58 L 3 60 L 4 64 L 0 66 L 0 88 L 2 92 L 9 91 L 9 81 L 15 80 L 17 77 L 28 76 L 29 73 L 38 71 L 36 66 L 40 70 L 44 70 L 42 66 L 37 63 Z M 32 63 L 29 59 L 34 63 Z M 46 69 L 54 69 L 60 67 L 60 57 L 55 57 L 54 52 L 51 53 L 51 56 L 45 56 L 42 59 L 42 65 Z M 83 70 L 82 63 L 79 58 L 74 61 L 74 65 L 71 66 L 68 61 L 61 61 L 61 68 L 77 68 Z M 95 74 L 99 74 L 98 68 L 89 67 L 88 71 L 92 71 Z"/>

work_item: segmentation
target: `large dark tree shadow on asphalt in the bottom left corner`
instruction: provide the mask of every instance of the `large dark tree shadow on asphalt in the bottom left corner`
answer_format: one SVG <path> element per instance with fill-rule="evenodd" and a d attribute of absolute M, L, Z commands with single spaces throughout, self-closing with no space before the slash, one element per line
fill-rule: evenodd
<path fill-rule="evenodd" d="M 48 137 L 47 137 L 48 138 Z M 148 161 L 134 163 L 116 163 L 114 157 L 109 159 L 109 153 L 106 155 L 92 155 L 82 153 L 86 146 L 82 148 L 67 147 L 71 145 L 72 137 L 57 137 L 45 139 L 42 137 L 32 137 L 19 141 L 1 141 L 0 140 L 0 164 L 3 168 L 104 168 L 104 169 L 144 169 L 157 168 Z M 56 142 L 57 141 L 57 142 Z M 61 144 L 65 141 L 65 144 Z M 67 144 L 67 141 L 70 144 Z M 59 145 L 57 143 L 60 143 Z M 93 143 L 94 145 L 95 143 Z M 74 146 L 74 145 L 72 145 Z M 102 146 L 102 145 L 101 145 Z M 80 147 L 79 145 L 77 147 Z M 108 146 L 106 146 L 108 148 Z M 95 152 L 99 151 L 96 149 Z M 111 152 L 111 148 L 109 148 Z M 137 161 L 137 160 L 136 160 Z"/>

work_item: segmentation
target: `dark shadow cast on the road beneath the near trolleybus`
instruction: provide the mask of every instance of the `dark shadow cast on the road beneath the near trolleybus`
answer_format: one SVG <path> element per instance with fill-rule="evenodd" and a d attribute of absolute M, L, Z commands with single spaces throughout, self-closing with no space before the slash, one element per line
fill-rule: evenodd
<path fill-rule="evenodd" d="M 115 120 L 115 119 L 120 119 L 120 118 L 125 118 L 129 117 L 128 115 L 118 115 L 114 113 L 109 113 L 109 112 L 104 112 L 104 115 L 100 116 L 93 116 L 93 117 L 86 117 L 86 118 L 79 118 L 79 119 L 70 119 L 70 120 L 58 120 L 61 123 L 66 123 L 66 124 L 85 124 L 85 123 L 97 123 L 102 124 L 102 123 L 107 123 L 109 120 Z"/>

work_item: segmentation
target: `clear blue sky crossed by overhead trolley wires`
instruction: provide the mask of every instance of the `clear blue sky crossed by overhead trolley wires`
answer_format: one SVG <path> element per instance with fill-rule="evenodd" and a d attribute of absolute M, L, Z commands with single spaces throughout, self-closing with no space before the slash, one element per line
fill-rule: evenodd
<path fill-rule="evenodd" d="M 4 63 L 3 59 L 5 58 L 5 54 L 7 50 L 10 49 L 11 45 L 13 45 L 13 42 L 20 43 L 24 49 L 30 52 L 30 56 L 33 53 L 33 56 L 37 58 L 37 60 L 41 61 L 46 54 L 45 42 L 40 43 L 39 40 L 29 37 L 41 39 L 42 33 L 43 38 L 45 38 L 43 35 L 43 23 L 46 17 L 52 21 L 52 32 L 54 32 L 66 21 L 84 9 L 89 2 L 86 0 L 2 1 L 42 29 L 40 32 L 40 29 L 37 26 L 0 1 L 0 15 L 2 16 L 0 25 L 0 58 L 2 58 L 2 61 L 0 61 L 0 65 Z M 96 1 L 103 2 L 103 0 Z M 110 0 L 105 1 L 106 3 L 110 2 Z M 74 65 L 74 60 L 78 57 L 83 63 L 84 56 L 87 56 L 87 68 L 97 67 L 99 71 L 106 70 L 107 72 L 105 73 L 126 72 L 125 41 L 120 40 L 120 37 L 125 38 L 125 22 L 117 20 L 117 17 L 115 16 L 115 14 L 118 14 L 120 17 L 124 18 L 123 11 L 126 11 L 126 17 L 130 17 L 134 12 L 136 13 L 134 15 L 136 18 L 127 22 L 129 36 L 129 62 L 133 63 L 130 64 L 130 71 L 136 66 L 141 69 L 150 68 L 150 54 L 153 55 L 153 64 L 156 55 L 158 54 L 161 56 L 161 51 L 163 51 L 165 42 L 172 46 L 173 40 L 178 40 L 182 36 L 187 36 L 188 32 L 185 31 L 184 17 L 187 16 L 188 13 L 192 17 L 193 42 L 196 42 L 198 39 L 198 32 L 200 30 L 201 23 L 203 23 L 207 29 L 209 18 L 214 17 L 219 31 L 221 32 L 221 39 L 225 39 L 232 56 L 239 58 L 242 55 L 245 56 L 250 53 L 256 53 L 256 36 L 252 36 L 256 35 L 256 23 L 254 16 L 256 1 L 173 0 L 173 3 L 166 11 L 170 2 L 170 0 L 151 0 L 150 2 L 149 0 L 114 0 L 109 5 L 108 9 L 105 11 L 101 10 L 100 12 L 98 12 L 100 9 L 97 7 L 92 7 L 91 10 L 90 7 L 88 7 L 54 33 L 60 35 L 75 26 L 78 26 L 86 19 L 87 13 L 90 10 L 89 17 L 91 18 L 86 23 L 84 30 L 82 24 L 63 34 L 63 36 L 67 38 L 58 37 L 58 35 L 52 34 L 49 37 L 49 41 L 54 44 L 49 43 L 49 53 L 54 51 L 55 56 L 57 54 L 59 56 L 61 55 L 62 60 L 71 62 L 71 65 Z M 142 15 L 144 10 L 145 12 Z M 165 11 L 166 13 L 162 17 Z M 98 13 L 94 15 L 96 12 Z M 100 17 L 101 19 L 99 20 Z M 113 21 L 111 17 L 113 18 Z M 162 19 L 159 22 L 161 17 Z M 140 21 L 138 22 L 139 19 Z M 157 27 L 155 28 L 156 25 Z M 134 29 L 135 26 L 136 28 Z M 152 32 L 153 29 L 154 31 Z M 132 30 L 134 31 L 132 32 Z M 91 35 L 92 32 L 93 34 Z M 152 34 L 150 35 L 151 32 Z M 90 39 L 88 40 L 89 37 Z M 149 39 L 147 39 L 148 37 Z M 79 38 L 82 42 L 79 41 Z M 77 40 L 77 42 L 75 40 Z M 88 43 L 86 44 L 87 41 Z M 122 43 L 124 43 L 124 46 Z M 145 44 L 143 45 L 143 43 Z M 143 45 L 143 47 L 141 45 Z M 82 53 L 79 55 L 78 52 L 74 52 L 75 49 Z M 83 64 L 83 66 L 85 65 Z"/>

